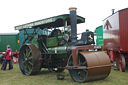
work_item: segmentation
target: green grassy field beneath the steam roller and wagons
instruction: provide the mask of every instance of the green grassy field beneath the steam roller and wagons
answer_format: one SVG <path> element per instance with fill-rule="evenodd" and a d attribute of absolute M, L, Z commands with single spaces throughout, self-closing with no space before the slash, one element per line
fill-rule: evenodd
<path fill-rule="evenodd" d="M 18 64 L 13 64 L 13 67 L 12 70 L 0 70 L 0 85 L 128 85 L 128 70 L 119 72 L 113 67 L 108 78 L 86 83 L 74 82 L 67 70 L 62 73 L 65 79 L 57 80 L 58 73 L 49 72 L 47 69 L 42 69 L 38 75 L 25 76 L 20 72 Z"/>

